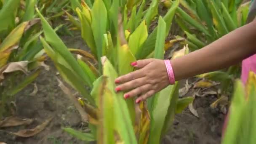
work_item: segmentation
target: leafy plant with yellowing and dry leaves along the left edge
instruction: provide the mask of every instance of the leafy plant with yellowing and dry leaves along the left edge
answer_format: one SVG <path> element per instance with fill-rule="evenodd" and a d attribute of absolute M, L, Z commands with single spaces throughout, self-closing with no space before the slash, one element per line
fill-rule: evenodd
<path fill-rule="evenodd" d="M 13 96 L 39 75 L 39 69 L 29 72 L 43 64 L 45 59 L 38 39 L 42 32 L 40 20 L 35 19 L 34 4 L 33 0 L 26 3 L 5 0 L 0 9 L 0 118 Z M 22 73 L 27 75 L 23 79 L 20 77 Z"/>

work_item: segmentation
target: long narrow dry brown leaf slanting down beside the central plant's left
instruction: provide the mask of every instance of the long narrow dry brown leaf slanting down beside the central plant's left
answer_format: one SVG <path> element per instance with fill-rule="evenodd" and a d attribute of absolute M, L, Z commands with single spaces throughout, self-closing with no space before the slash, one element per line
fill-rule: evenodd
<path fill-rule="evenodd" d="M 69 97 L 69 99 L 73 102 L 73 104 L 75 105 L 76 109 L 78 110 L 82 121 L 83 122 L 87 122 L 88 121 L 88 117 L 86 112 L 84 111 L 83 107 L 79 104 L 79 102 L 77 101 L 76 97 L 71 93 L 71 91 L 69 90 L 69 88 L 67 88 L 62 82 L 61 80 L 59 80 L 57 78 L 58 82 L 59 82 L 59 87 L 61 88 L 61 90 Z"/>

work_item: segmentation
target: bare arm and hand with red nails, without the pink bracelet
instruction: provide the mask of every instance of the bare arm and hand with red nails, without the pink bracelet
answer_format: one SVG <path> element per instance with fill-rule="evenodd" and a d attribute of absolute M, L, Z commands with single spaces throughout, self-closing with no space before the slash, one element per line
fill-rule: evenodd
<path fill-rule="evenodd" d="M 256 53 L 256 21 L 230 32 L 206 47 L 171 61 L 176 80 L 232 66 Z M 139 103 L 169 85 L 163 60 L 144 59 L 132 63 L 135 72 L 116 79 L 115 91 L 128 91 L 125 99 L 138 96 Z"/>

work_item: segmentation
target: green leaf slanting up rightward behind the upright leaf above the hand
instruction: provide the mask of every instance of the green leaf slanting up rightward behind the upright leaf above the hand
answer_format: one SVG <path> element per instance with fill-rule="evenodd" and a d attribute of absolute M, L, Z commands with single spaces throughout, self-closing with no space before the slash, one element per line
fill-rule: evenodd
<path fill-rule="evenodd" d="M 175 2 L 173 2 L 173 5 L 171 6 L 171 8 L 168 10 L 168 12 L 163 18 L 166 26 L 168 26 L 166 27 L 166 30 L 165 30 L 165 36 L 167 36 L 169 33 L 169 30 L 171 28 L 171 22 L 172 22 L 174 13 L 176 11 L 176 8 L 178 8 L 178 6 L 179 6 L 179 0 L 176 0 Z M 157 37 L 157 29 L 155 28 L 153 32 L 149 35 L 147 40 L 144 42 L 144 44 L 142 45 L 141 50 L 138 51 L 138 53 L 136 54 L 136 59 L 144 59 L 154 51 L 156 37 Z"/>

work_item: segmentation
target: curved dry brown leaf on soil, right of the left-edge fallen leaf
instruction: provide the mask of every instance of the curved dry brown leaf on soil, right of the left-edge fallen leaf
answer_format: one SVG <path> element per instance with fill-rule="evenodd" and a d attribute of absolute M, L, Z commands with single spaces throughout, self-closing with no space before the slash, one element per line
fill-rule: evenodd
<path fill-rule="evenodd" d="M 24 137 L 24 138 L 35 136 L 37 133 L 40 133 L 41 131 L 43 131 L 45 127 L 48 125 L 48 123 L 51 122 L 52 119 L 53 117 L 50 117 L 48 120 L 45 120 L 45 122 L 43 122 L 40 125 L 37 125 L 35 128 L 21 130 L 16 133 L 13 133 L 13 132 L 10 132 L 10 133 L 16 136 Z"/>

